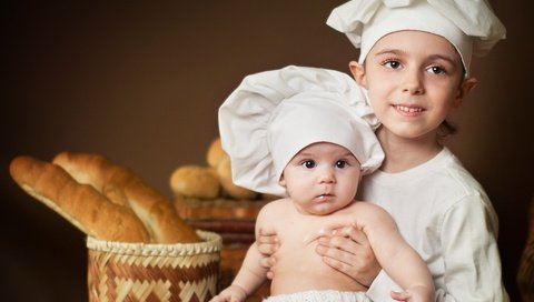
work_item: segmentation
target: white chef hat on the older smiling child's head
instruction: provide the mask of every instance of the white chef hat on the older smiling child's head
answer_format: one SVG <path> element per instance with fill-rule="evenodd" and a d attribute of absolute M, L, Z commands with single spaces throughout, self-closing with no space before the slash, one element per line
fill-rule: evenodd
<path fill-rule="evenodd" d="M 326 23 L 360 48 L 359 63 L 390 32 L 419 30 L 442 36 L 458 51 L 467 74 L 472 53 L 485 56 L 506 36 L 486 0 L 350 0 L 335 8 Z"/>

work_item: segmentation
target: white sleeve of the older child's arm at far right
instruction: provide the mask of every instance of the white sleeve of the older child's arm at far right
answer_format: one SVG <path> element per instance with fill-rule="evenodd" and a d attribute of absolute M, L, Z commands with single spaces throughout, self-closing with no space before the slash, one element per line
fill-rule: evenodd
<path fill-rule="evenodd" d="M 442 221 L 444 289 L 436 301 L 508 301 L 502 283 L 497 217 L 478 195 L 456 202 Z"/>

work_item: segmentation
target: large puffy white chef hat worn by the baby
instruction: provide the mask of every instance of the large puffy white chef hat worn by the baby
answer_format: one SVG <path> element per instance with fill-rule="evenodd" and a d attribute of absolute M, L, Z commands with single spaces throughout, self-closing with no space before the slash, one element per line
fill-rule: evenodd
<path fill-rule="evenodd" d="M 318 68 L 289 66 L 248 76 L 219 108 L 234 182 L 275 195 L 286 195 L 278 181 L 287 163 L 314 142 L 347 148 L 364 174 L 377 169 L 384 159 L 374 133 L 378 124 L 350 77 Z"/>

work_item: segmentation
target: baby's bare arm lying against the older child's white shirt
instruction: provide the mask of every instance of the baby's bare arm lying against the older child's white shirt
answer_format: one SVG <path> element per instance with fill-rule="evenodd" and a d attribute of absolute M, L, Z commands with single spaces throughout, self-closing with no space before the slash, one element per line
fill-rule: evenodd
<path fill-rule="evenodd" d="M 404 241 L 395 221 L 382 208 L 359 202 L 357 224 L 367 235 L 382 268 L 405 290 L 395 300 L 434 301 L 432 274 L 421 255 Z"/>

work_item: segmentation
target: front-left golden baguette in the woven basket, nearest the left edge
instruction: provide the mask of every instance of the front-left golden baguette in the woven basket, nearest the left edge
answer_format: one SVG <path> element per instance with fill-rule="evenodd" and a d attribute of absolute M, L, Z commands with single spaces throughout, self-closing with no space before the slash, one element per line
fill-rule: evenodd
<path fill-rule="evenodd" d="M 90 185 L 78 183 L 56 164 L 20 155 L 11 161 L 9 171 L 28 194 L 87 235 L 121 242 L 150 241 L 145 225 L 130 209 L 112 203 Z"/>

